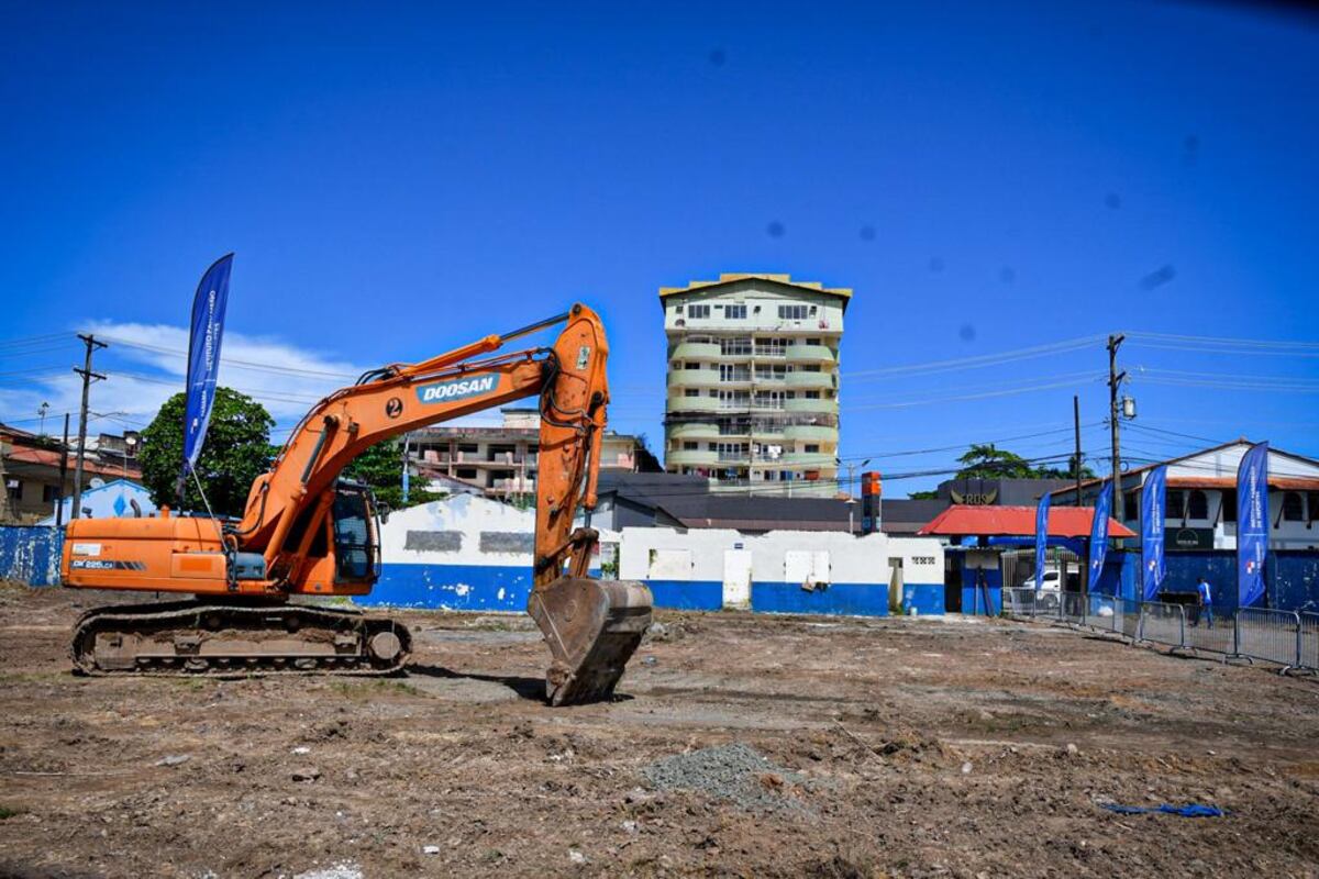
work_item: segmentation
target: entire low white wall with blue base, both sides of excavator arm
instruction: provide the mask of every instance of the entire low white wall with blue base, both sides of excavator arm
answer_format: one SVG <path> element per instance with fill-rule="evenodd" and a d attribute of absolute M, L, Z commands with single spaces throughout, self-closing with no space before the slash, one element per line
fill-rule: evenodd
<path fill-rule="evenodd" d="M 394 513 L 364 605 L 516 611 L 532 589 L 536 517 L 460 496 Z M 633 527 L 600 532 L 594 568 L 650 586 L 657 608 L 882 617 L 943 611 L 943 547 L 930 538 Z M 615 573 L 616 565 L 616 573 Z"/>

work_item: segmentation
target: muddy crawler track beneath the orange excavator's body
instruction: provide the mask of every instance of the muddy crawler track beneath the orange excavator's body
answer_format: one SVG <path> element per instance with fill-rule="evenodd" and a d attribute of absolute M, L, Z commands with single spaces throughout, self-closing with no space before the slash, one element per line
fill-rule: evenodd
<path fill-rule="evenodd" d="M 412 652 L 406 626 L 355 610 L 179 601 L 96 608 L 74 623 L 86 675 L 390 675 Z"/>

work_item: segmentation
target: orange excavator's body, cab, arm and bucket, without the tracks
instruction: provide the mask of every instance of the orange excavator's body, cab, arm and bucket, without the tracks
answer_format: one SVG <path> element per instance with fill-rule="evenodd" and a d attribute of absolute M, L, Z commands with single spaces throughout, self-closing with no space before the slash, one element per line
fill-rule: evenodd
<path fill-rule="evenodd" d="M 550 348 L 501 353 L 506 343 L 565 322 Z M 129 525 L 124 534 L 108 534 L 156 538 L 149 543 L 171 547 L 170 557 L 160 565 L 124 568 L 124 573 L 138 572 L 131 580 L 117 569 L 70 560 L 66 553 L 66 575 L 71 575 L 66 582 L 224 593 L 227 598 L 364 594 L 377 577 L 377 567 L 368 561 L 379 550 L 379 535 L 369 496 L 340 481 L 344 468 L 393 436 L 538 397 L 536 544 L 528 611 L 541 626 L 553 655 L 546 673 L 550 701 L 608 696 L 649 626 L 650 593 L 640 584 L 591 579 L 598 534 L 590 527 L 572 527 L 578 509 L 590 514 L 596 503 L 609 402 L 607 358 L 608 343 L 599 316 L 574 304 L 563 315 L 503 336 L 487 336 L 422 362 L 371 370 L 303 416 L 270 470 L 253 482 L 237 525 L 222 528 L 202 519 Z M 340 507 L 352 507 L 355 498 L 356 513 L 342 514 Z M 74 522 L 69 536 L 78 538 L 74 531 L 87 536 L 95 527 Z M 350 543 L 339 540 L 346 530 L 352 532 Z M 350 555 L 361 564 L 347 564 Z M 216 556 L 223 561 L 218 564 Z M 181 573 L 200 572 L 203 563 L 210 565 L 206 573 L 193 580 Z M 137 581 L 144 585 L 135 585 Z M 375 642 L 379 658 L 406 652 L 405 643 L 379 637 L 385 638 Z"/>

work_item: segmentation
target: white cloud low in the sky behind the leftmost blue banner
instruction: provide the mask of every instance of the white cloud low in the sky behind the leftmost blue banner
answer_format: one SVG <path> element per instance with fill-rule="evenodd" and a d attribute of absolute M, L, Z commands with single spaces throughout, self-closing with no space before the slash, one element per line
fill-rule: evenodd
<path fill-rule="evenodd" d="M 96 352 L 94 369 L 108 380 L 91 387 L 90 406 L 100 418 L 90 431 L 120 432 L 148 424 L 173 394 L 183 390 L 186 370 L 186 327 L 99 320 L 83 332 L 106 339 L 109 348 Z M 70 343 L 69 356 L 80 354 Z M 80 357 L 78 357 L 80 361 Z M 268 336 L 227 332 L 220 354 L 219 383 L 256 398 L 276 419 L 273 441 L 282 441 L 309 409 L 331 391 L 351 385 L 368 368 L 344 357 L 299 348 Z M 42 402 L 50 405 L 46 431 L 62 430 L 63 412 L 73 412 L 70 430 L 77 430 L 82 380 L 67 373 L 41 373 L 21 385 L 13 380 L 0 386 L 0 422 L 37 428 L 36 415 Z M 497 424 L 499 412 L 462 419 L 463 424 Z"/>

